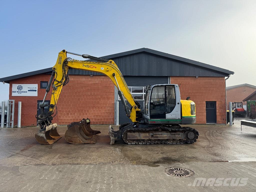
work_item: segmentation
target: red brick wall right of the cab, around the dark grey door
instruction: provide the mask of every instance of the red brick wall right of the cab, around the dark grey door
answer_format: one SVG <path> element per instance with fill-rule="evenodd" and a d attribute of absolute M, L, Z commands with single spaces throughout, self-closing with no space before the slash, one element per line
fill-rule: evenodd
<path fill-rule="evenodd" d="M 179 85 L 181 99 L 196 103 L 197 124 L 206 123 L 206 101 L 216 101 L 217 123 L 226 124 L 224 77 L 170 77 L 170 83 Z"/>

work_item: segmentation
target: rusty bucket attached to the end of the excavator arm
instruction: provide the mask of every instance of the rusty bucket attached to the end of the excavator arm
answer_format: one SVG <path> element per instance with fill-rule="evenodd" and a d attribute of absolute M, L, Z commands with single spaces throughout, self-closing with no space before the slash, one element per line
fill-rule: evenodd
<path fill-rule="evenodd" d="M 35 138 L 38 143 L 51 145 L 58 141 L 61 136 L 57 132 L 57 123 L 46 126 L 46 130 L 36 133 Z"/>

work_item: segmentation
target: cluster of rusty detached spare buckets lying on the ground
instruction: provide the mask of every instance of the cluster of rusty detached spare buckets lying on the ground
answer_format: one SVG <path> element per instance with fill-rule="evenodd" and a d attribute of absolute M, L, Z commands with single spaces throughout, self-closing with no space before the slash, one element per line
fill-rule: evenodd
<path fill-rule="evenodd" d="M 72 144 L 89 143 L 93 144 L 97 142 L 100 131 L 92 130 L 90 127 L 90 120 L 82 119 L 79 122 L 73 122 L 68 125 L 68 130 L 65 133 L 65 139 Z"/>

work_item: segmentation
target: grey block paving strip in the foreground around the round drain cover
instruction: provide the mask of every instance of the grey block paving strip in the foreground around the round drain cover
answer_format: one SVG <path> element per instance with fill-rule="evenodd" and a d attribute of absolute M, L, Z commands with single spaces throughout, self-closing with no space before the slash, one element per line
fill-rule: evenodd
<path fill-rule="evenodd" d="M 165 173 L 176 166 L 195 175 Z M 0 166 L 0 191 L 255 191 L 255 169 L 256 162 Z"/>

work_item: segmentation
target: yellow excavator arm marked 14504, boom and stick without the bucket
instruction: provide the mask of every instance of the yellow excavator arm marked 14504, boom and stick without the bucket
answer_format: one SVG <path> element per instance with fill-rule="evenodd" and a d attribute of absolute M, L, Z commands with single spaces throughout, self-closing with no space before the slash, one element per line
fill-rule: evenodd
<path fill-rule="evenodd" d="M 67 57 L 67 53 L 82 56 L 83 58 L 93 59 L 96 61 L 82 61 L 71 59 Z M 118 89 L 118 94 L 123 103 L 126 115 L 131 119 L 132 122 L 136 122 L 136 111 L 140 111 L 140 104 L 133 98 L 122 76 L 122 73 L 120 72 L 118 66 L 115 64 L 113 60 L 106 60 L 98 57 L 93 57 L 90 55 L 80 55 L 67 52 L 66 50 L 62 50 L 61 52 L 59 52 L 56 64 L 52 68 L 53 71 L 50 77 L 50 81 L 48 83 L 48 87 L 46 88 L 46 94 L 42 104 L 40 105 L 41 114 L 37 117 L 39 127 L 41 128 L 40 131 L 47 131 L 50 130 L 50 128 L 52 128 L 52 115 L 54 114 L 55 108 L 57 108 L 56 104 L 58 102 L 62 87 L 69 82 L 69 68 L 100 72 L 108 76 Z M 49 112 L 47 114 L 44 112 L 44 108 L 48 106 L 48 104 L 44 104 L 44 102 L 47 93 L 50 91 L 51 85 L 53 90 L 49 105 Z M 126 101 L 129 102 L 130 105 L 132 106 L 131 109 L 129 109 Z"/>

